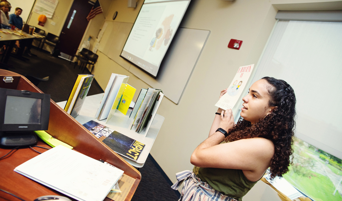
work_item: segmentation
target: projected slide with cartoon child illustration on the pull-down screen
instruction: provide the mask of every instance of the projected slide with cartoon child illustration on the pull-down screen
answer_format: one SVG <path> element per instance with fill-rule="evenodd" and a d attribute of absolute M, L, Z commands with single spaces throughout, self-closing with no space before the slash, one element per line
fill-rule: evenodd
<path fill-rule="evenodd" d="M 156 77 L 188 4 L 145 0 L 120 56 Z"/>

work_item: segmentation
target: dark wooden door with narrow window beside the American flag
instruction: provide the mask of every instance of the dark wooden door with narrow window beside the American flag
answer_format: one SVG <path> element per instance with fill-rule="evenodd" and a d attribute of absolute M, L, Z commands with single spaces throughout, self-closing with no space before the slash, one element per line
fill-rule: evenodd
<path fill-rule="evenodd" d="M 87 29 L 87 16 L 92 7 L 87 0 L 74 0 L 56 46 L 58 50 L 71 56 L 76 53 Z"/>

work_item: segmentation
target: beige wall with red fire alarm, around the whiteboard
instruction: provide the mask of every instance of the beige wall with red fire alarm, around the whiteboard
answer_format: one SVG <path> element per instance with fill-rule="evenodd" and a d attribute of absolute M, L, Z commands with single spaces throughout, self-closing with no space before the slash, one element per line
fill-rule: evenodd
<path fill-rule="evenodd" d="M 193 0 L 182 27 L 211 31 L 179 105 L 163 99 L 158 113 L 165 117 L 151 150 L 163 171 L 175 182 L 175 173 L 192 170 L 190 156 L 208 136 L 219 92 L 227 88 L 239 66 L 257 64 L 276 22 L 279 8 L 285 10 L 341 9 L 342 1 L 331 0 Z M 117 22 L 134 23 L 142 1 L 136 9 L 127 8 L 127 0 L 113 0 L 106 17 L 118 11 Z M 108 31 L 108 30 L 107 30 Z M 240 50 L 228 49 L 230 39 L 242 40 Z M 106 42 L 103 39 L 101 43 Z M 122 42 L 124 43 L 125 40 Z M 111 73 L 129 75 L 128 83 L 137 91 L 148 85 L 132 75 L 104 53 L 98 51 L 93 73 L 105 89 Z M 220 153 L 218 153 L 220 154 Z M 143 175 L 144 177 L 144 175 Z"/>

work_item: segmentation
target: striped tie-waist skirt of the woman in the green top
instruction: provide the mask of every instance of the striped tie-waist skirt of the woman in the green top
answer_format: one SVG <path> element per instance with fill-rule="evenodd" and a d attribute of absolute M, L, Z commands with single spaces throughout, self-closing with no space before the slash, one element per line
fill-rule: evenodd
<path fill-rule="evenodd" d="M 176 177 L 177 182 L 171 186 L 172 189 L 177 190 L 184 182 L 179 201 L 237 201 L 214 190 L 207 183 L 201 182 L 193 171 L 185 170 L 179 172 L 176 174 Z"/>

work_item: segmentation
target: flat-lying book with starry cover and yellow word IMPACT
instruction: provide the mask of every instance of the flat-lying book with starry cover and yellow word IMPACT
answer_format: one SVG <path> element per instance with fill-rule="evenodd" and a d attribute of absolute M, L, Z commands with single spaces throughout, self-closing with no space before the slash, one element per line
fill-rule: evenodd
<path fill-rule="evenodd" d="M 96 121 L 83 124 L 92 134 L 123 157 L 137 161 L 145 145 Z"/>

